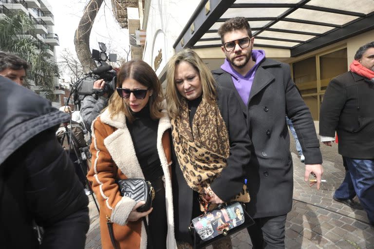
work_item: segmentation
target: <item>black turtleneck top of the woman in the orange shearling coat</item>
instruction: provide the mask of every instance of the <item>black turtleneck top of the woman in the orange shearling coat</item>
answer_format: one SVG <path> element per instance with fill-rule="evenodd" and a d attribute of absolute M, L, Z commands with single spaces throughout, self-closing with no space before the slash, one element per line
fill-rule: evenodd
<path fill-rule="evenodd" d="M 127 121 L 136 157 L 143 171 L 144 178 L 152 181 L 164 175 L 161 161 L 157 152 L 158 119 L 150 118 L 149 106 L 145 106 L 140 112 L 132 113 L 135 120 Z"/>

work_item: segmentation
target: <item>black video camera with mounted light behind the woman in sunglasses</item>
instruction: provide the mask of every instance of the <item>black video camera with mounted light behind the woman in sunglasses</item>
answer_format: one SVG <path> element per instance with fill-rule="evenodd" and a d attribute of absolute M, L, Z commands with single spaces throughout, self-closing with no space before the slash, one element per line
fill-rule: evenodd
<path fill-rule="evenodd" d="M 93 93 L 97 96 L 108 93 L 108 95 L 111 96 L 115 91 L 115 81 L 117 73 L 112 70 L 112 66 L 106 63 L 106 61 L 117 61 L 117 55 L 107 55 L 107 47 L 102 42 L 99 42 L 99 48 L 101 51 L 95 49 L 92 50 L 92 58 L 100 63 L 100 66 L 92 70 L 92 72 L 88 73 L 88 76 L 81 79 L 81 82 L 77 85 L 74 96 L 75 104 L 79 104 L 79 102 L 83 100 L 85 96 L 92 95 Z M 104 81 L 106 82 L 104 89 L 93 89 L 93 83 L 98 79 L 104 79 Z"/>

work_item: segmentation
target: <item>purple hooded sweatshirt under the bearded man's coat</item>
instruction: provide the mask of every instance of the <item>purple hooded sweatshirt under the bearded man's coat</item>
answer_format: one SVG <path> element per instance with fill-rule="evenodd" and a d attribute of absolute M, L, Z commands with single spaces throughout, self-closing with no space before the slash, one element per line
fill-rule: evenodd
<path fill-rule="evenodd" d="M 249 72 L 245 76 L 236 72 L 235 69 L 232 68 L 227 58 L 224 60 L 224 64 L 222 64 L 221 66 L 222 70 L 231 75 L 235 88 L 238 91 L 240 97 L 242 98 L 245 106 L 247 106 L 248 104 L 249 93 L 251 92 L 252 83 L 253 79 L 255 78 L 257 68 L 259 67 L 260 62 L 264 58 L 265 51 L 252 50 L 252 59 L 253 61 L 255 61 L 255 65 L 249 70 Z"/>

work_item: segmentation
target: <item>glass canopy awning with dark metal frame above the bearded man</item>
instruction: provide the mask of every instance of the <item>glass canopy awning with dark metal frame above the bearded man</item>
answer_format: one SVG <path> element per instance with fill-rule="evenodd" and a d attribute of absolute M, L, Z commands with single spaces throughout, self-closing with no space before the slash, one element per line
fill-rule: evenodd
<path fill-rule="evenodd" d="M 297 57 L 374 29 L 374 0 L 202 0 L 174 43 L 221 46 L 222 23 L 245 17 L 255 46 L 289 49 Z"/>

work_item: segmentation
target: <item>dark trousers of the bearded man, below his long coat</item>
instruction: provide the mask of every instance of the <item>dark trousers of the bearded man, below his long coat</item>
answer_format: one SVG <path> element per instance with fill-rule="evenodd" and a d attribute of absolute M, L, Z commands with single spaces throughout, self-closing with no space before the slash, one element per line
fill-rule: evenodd
<path fill-rule="evenodd" d="M 287 214 L 256 218 L 255 225 L 247 228 L 252 249 L 284 249 Z"/>

